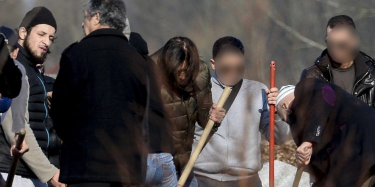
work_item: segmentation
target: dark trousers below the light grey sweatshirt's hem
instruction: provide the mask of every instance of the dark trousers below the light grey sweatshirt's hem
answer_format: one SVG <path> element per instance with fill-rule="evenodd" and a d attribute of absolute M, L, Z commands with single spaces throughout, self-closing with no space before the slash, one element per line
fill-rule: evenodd
<path fill-rule="evenodd" d="M 238 181 L 217 181 L 203 176 L 195 175 L 198 187 L 262 187 L 258 175 Z"/>

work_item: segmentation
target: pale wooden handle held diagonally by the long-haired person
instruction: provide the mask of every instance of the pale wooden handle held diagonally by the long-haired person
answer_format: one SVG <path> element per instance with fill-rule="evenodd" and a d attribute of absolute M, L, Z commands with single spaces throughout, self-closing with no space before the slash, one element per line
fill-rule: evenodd
<path fill-rule="evenodd" d="M 224 91 L 222 91 L 222 94 L 221 94 L 219 100 L 217 101 L 217 104 L 216 104 L 217 107 L 222 107 L 224 105 L 226 99 L 229 96 L 230 90 L 231 90 L 230 87 L 224 88 Z M 203 149 L 204 142 L 207 140 L 207 137 L 208 137 L 209 132 L 211 131 L 213 125 L 214 125 L 214 122 L 212 120 L 208 120 L 207 125 L 205 126 L 204 131 L 202 133 L 202 136 L 200 137 L 198 143 L 196 144 L 196 147 L 195 147 L 194 151 L 191 153 L 190 159 L 187 162 L 187 164 L 185 166 L 185 169 L 183 170 L 182 175 L 180 176 L 180 178 L 178 180 L 178 186 L 183 187 L 183 185 L 185 184 L 185 182 L 187 180 L 187 177 L 189 176 L 189 174 L 192 170 L 192 167 L 194 166 L 195 161 L 199 156 L 199 153 Z"/>

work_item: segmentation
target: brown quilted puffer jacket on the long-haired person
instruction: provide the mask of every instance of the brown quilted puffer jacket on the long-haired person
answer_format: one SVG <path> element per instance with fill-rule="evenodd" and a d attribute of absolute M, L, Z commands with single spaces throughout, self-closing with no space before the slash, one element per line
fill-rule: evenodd
<path fill-rule="evenodd" d="M 157 63 L 159 51 L 150 57 Z M 212 105 L 211 75 L 208 64 L 200 61 L 199 73 L 193 84 L 184 89 L 161 86 L 164 109 L 173 130 L 174 165 L 181 171 L 187 164 L 194 138 L 195 123 L 204 128 Z M 215 127 L 216 128 L 216 127 Z"/>

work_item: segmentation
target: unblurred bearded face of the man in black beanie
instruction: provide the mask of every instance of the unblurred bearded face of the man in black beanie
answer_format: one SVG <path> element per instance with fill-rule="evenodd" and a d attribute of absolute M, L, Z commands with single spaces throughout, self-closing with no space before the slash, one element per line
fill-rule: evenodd
<path fill-rule="evenodd" d="M 35 63 L 43 63 L 49 47 L 54 40 L 56 30 L 47 24 L 38 24 L 32 27 L 30 33 L 25 32 L 25 28 L 21 27 L 19 35 L 23 39 L 24 49 L 34 58 Z"/>

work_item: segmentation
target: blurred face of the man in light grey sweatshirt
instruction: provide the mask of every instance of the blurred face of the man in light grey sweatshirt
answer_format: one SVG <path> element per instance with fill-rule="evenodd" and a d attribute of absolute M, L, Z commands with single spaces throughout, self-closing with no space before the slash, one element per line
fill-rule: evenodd
<path fill-rule="evenodd" d="M 221 49 L 215 59 L 211 59 L 211 67 L 223 84 L 234 86 L 243 77 L 245 57 L 238 49 Z"/>

